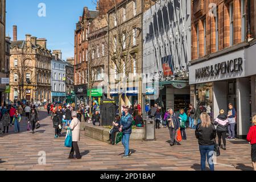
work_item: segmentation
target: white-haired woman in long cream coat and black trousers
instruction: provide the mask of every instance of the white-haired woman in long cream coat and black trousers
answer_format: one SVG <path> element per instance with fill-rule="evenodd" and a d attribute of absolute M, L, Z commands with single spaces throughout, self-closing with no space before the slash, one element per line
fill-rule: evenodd
<path fill-rule="evenodd" d="M 81 159 L 79 146 L 77 144 L 77 142 L 79 142 L 80 140 L 80 122 L 76 116 L 77 116 L 76 111 L 73 111 L 72 112 L 73 119 L 69 127 L 66 127 L 66 129 L 70 129 L 72 131 L 72 148 L 71 148 L 68 159 Z M 74 158 L 74 152 L 76 152 L 76 158 Z"/>

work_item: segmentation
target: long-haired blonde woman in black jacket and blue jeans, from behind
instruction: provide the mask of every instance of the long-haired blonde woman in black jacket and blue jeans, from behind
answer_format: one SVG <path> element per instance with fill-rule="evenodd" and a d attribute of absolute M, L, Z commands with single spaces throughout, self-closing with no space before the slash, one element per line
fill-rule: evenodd
<path fill-rule="evenodd" d="M 213 161 L 209 161 L 214 154 L 216 130 L 207 113 L 201 114 L 201 122 L 196 126 L 196 138 L 199 143 L 201 154 L 201 170 L 205 171 L 205 160 L 207 159 L 210 171 L 214 171 Z"/>

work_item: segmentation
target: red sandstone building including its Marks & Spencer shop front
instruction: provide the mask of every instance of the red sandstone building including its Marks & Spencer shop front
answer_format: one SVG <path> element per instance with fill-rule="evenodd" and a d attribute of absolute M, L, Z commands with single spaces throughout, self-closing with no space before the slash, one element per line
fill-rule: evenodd
<path fill-rule="evenodd" d="M 255 108 L 254 0 L 191 1 L 191 102 L 213 118 L 228 104 L 237 110 L 237 137 L 244 137 Z"/>

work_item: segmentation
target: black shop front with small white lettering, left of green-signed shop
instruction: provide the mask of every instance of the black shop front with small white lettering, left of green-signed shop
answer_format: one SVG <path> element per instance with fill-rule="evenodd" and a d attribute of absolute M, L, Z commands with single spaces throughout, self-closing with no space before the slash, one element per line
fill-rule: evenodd
<path fill-rule="evenodd" d="M 87 86 L 86 85 L 75 85 L 75 106 L 76 109 L 80 104 L 88 105 L 87 98 Z"/>

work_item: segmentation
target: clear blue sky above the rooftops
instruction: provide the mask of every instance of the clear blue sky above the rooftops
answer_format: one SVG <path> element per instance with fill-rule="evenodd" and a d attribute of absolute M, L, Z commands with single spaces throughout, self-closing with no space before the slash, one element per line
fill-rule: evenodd
<path fill-rule="evenodd" d="M 46 16 L 38 16 L 39 3 L 46 5 Z M 61 49 L 62 59 L 74 57 L 74 30 L 83 7 L 95 10 L 93 0 L 7 0 L 6 35 L 13 38 L 18 26 L 18 40 L 26 34 L 47 39 L 47 48 Z"/>

